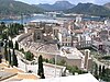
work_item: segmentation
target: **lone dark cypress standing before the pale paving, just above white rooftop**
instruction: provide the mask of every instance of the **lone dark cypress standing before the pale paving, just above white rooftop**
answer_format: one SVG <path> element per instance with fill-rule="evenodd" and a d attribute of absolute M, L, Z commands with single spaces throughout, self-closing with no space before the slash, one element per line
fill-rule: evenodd
<path fill-rule="evenodd" d="M 43 59 L 42 59 L 42 56 L 38 57 L 38 70 L 37 70 L 37 74 L 38 74 L 42 79 L 45 79 L 45 77 L 44 77 L 44 69 L 43 69 Z"/>

